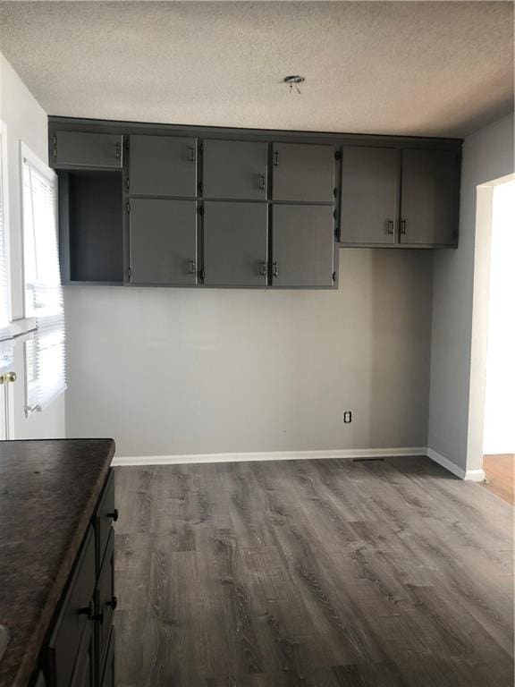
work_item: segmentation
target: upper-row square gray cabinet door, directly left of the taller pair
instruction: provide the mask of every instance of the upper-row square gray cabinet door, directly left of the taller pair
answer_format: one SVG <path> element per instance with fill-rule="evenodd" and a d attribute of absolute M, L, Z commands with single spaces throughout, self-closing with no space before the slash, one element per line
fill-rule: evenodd
<path fill-rule="evenodd" d="M 334 202 L 335 148 L 304 143 L 274 143 L 273 199 Z"/>

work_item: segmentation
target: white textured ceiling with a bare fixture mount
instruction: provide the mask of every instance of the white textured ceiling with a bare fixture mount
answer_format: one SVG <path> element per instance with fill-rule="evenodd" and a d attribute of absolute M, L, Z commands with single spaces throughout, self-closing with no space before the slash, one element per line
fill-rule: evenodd
<path fill-rule="evenodd" d="M 0 2 L 0 50 L 49 114 L 461 136 L 513 106 L 508 2 Z"/>

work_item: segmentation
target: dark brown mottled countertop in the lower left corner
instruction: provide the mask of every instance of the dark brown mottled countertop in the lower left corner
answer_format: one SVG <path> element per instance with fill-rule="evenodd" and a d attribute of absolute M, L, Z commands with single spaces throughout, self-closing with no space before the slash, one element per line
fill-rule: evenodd
<path fill-rule="evenodd" d="M 113 439 L 0 441 L 0 687 L 37 666 L 113 455 Z"/>

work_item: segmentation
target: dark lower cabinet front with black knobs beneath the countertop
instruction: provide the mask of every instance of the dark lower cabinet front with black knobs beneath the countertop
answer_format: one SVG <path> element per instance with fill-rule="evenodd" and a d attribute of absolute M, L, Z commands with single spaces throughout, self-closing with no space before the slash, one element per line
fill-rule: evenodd
<path fill-rule="evenodd" d="M 106 513 L 107 506 L 114 509 L 113 471 L 109 471 L 41 653 L 46 687 L 114 687 L 112 522 L 116 516 Z"/>

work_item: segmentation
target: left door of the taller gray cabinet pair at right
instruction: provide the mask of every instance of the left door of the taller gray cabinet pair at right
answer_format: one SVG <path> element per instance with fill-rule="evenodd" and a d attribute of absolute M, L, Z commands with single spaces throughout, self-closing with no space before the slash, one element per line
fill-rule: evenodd
<path fill-rule="evenodd" d="M 398 198 L 395 148 L 343 148 L 342 243 L 395 243 Z"/>

